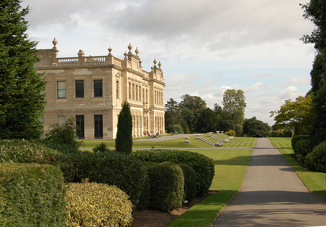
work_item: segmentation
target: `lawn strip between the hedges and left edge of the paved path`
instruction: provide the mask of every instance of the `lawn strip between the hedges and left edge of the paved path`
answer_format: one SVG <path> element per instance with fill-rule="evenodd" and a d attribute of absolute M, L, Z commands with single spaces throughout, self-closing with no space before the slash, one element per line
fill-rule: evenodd
<path fill-rule="evenodd" d="M 210 190 L 219 192 L 174 219 L 169 226 L 210 226 L 216 216 L 239 191 L 253 149 L 194 149 L 214 160 L 215 176 Z"/>

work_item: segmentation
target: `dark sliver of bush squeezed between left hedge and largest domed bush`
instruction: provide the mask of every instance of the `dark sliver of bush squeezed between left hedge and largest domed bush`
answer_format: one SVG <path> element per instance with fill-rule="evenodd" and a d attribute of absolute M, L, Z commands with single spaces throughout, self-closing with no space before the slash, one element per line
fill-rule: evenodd
<path fill-rule="evenodd" d="M 149 206 L 151 183 L 149 180 L 148 169 L 152 166 L 157 166 L 158 164 L 155 162 L 143 162 L 143 165 L 146 171 L 146 178 L 141 192 L 141 196 L 139 197 L 139 203 L 136 208 L 137 210 L 144 210 Z"/>

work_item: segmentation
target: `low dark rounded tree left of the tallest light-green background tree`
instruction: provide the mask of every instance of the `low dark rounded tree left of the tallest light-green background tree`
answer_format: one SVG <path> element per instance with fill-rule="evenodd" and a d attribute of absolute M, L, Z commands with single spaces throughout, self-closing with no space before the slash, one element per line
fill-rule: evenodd
<path fill-rule="evenodd" d="M 199 132 L 205 128 L 208 132 L 216 131 L 218 125 L 218 116 L 210 108 L 203 109 L 196 120 L 196 131 Z"/>

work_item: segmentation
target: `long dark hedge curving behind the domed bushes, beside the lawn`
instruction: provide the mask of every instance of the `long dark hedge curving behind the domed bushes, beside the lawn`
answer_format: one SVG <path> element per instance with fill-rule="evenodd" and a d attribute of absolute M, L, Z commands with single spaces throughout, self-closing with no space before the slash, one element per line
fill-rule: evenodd
<path fill-rule="evenodd" d="M 131 156 L 143 162 L 161 163 L 170 161 L 192 167 L 196 172 L 196 195 L 207 195 L 214 177 L 214 161 L 199 153 L 189 152 L 187 150 L 153 149 L 137 150 L 131 153 Z"/>

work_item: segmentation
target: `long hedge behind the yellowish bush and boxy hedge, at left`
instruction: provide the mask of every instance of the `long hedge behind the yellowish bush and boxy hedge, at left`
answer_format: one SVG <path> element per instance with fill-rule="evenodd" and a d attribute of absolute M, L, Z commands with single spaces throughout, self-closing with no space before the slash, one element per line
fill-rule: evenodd
<path fill-rule="evenodd" d="M 0 162 L 39 163 L 59 166 L 65 182 L 117 185 L 137 206 L 146 172 L 141 161 L 117 152 L 61 153 L 39 141 L 0 140 Z"/>

